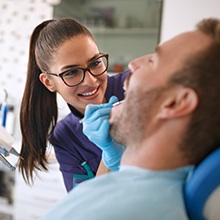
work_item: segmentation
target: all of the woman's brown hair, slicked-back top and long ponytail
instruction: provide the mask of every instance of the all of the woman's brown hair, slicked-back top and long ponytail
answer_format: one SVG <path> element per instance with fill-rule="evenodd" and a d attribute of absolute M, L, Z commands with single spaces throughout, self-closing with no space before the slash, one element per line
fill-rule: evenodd
<path fill-rule="evenodd" d="M 78 35 L 94 40 L 85 26 L 71 18 L 44 21 L 31 35 L 27 79 L 20 108 L 20 154 L 23 159 L 18 164 L 28 184 L 33 183 L 35 169 L 47 170 L 47 139 L 58 115 L 56 93 L 41 83 L 39 75 L 50 70 L 59 47 Z"/>

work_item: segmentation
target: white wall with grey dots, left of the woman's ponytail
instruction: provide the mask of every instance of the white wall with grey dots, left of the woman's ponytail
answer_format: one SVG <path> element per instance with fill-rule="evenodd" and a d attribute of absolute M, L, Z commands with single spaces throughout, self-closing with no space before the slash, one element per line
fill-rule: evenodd
<path fill-rule="evenodd" d="M 56 0 L 0 0 L 0 103 L 3 89 L 14 112 L 7 115 L 6 130 L 20 137 L 19 108 L 26 80 L 29 39 L 34 27 L 53 16 Z M 9 116 L 11 116 L 9 120 Z"/>

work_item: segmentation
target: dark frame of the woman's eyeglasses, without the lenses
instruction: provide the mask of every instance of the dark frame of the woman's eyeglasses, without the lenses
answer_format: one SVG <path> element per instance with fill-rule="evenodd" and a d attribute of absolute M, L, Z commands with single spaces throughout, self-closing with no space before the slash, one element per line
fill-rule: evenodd
<path fill-rule="evenodd" d="M 49 73 L 49 72 L 47 72 L 47 71 L 44 71 L 43 73 L 48 74 L 48 75 L 52 75 L 52 76 L 60 77 L 60 78 L 62 79 L 62 81 L 63 81 L 67 86 L 69 86 L 69 87 L 78 86 L 78 85 L 79 85 L 81 82 L 83 82 L 83 80 L 85 79 L 86 71 L 88 71 L 92 76 L 100 76 L 100 75 L 102 75 L 102 74 L 108 69 L 108 67 L 109 67 L 109 60 L 108 60 L 108 59 L 109 59 L 109 54 L 105 54 L 105 53 L 99 53 L 99 54 L 100 54 L 100 56 L 96 57 L 93 61 L 91 61 L 90 64 L 89 64 L 86 68 L 81 68 L 81 67 L 76 68 L 76 69 L 81 69 L 81 70 L 83 71 L 83 77 L 82 77 L 82 80 L 81 80 L 80 82 L 78 82 L 77 84 L 75 84 L 75 85 L 68 85 L 68 84 L 65 82 L 64 78 L 63 78 L 63 74 L 65 74 L 65 73 L 68 72 L 69 70 L 65 70 L 65 71 L 63 71 L 63 72 L 61 72 L 61 73 Z M 97 75 L 94 75 L 94 74 L 91 72 L 89 66 L 91 65 L 92 62 L 94 62 L 95 60 L 97 60 L 97 59 L 99 59 L 99 58 L 102 58 L 102 57 L 105 57 L 106 60 L 107 60 L 106 69 L 105 69 L 102 73 L 97 74 Z"/>

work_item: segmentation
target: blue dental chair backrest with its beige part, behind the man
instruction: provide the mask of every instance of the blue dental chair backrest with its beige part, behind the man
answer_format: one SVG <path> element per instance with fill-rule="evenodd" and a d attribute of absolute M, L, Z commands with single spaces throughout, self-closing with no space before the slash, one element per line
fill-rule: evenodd
<path fill-rule="evenodd" d="M 190 220 L 220 220 L 220 148 L 192 172 L 184 187 Z"/>

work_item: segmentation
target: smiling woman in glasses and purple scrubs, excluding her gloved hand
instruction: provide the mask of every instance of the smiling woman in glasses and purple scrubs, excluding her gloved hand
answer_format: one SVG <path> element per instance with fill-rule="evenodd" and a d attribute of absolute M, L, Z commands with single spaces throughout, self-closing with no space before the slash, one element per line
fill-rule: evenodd
<path fill-rule="evenodd" d="M 129 72 L 107 76 L 109 55 L 99 51 L 89 32 L 71 18 L 47 20 L 30 40 L 26 86 L 20 109 L 19 170 L 27 183 L 34 171 L 47 170 L 47 146 L 54 146 L 67 191 L 97 173 L 102 151 L 83 134 L 80 120 L 88 104 L 109 105 L 124 98 Z M 70 113 L 57 123 L 56 94 Z"/>

